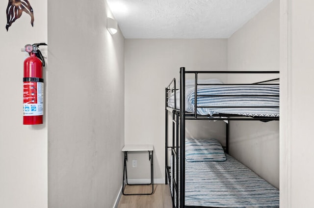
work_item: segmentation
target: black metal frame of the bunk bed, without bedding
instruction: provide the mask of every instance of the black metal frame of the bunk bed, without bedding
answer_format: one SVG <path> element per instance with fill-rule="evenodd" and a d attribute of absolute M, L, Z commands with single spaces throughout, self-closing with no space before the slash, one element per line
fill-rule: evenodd
<path fill-rule="evenodd" d="M 194 99 L 194 113 L 185 112 L 185 75 L 194 74 L 195 78 L 195 99 Z M 185 206 L 185 120 L 227 120 L 226 123 L 226 146 L 224 147 L 226 153 L 229 153 L 229 121 L 278 121 L 279 117 L 249 117 L 240 115 L 213 115 L 203 116 L 197 114 L 197 86 L 199 85 L 263 85 L 270 81 L 279 80 L 279 78 L 269 79 L 261 82 L 255 82 L 251 84 L 198 84 L 199 74 L 279 74 L 279 71 L 185 71 L 184 67 L 180 68 L 180 108 L 177 107 L 177 89 L 176 79 L 172 79 L 170 84 L 165 89 L 165 184 L 172 181 L 172 202 L 174 208 L 213 208 L 202 206 Z M 267 85 L 279 85 L 279 84 L 267 84 Z M 168 99 L 170 94 L 174 93 L 174 107 L 168 106 Z M 225 96 L 225 95 L 224 95 Z M 206 106 L 206 107 L 223 107 L 223 106 Z M 238 107 L 238 106 L 228 106 Z M 243 107 L 261 107 L 261 106 L 243 106 Z M 278 107 L 279 106 L 268 106 Z M 204 108 L 204 106 L 202 106 Z M 183 109 L 183 110 L 180 110 Z M 168 144 L 168 112 L 172 113 L 172 146 Z M 223 118 L 221 116 L 224 116 Z M 225 117 L 226 116 L 226 117 Z M 172 155 L 172 167 L 176 170 L 170 170 L 168 166 L 168 150 L 171 149 Z M 179 166 L 180 164 L 180 166 Z M 180 170 L 180 176 L 179 176 Z M 171 177 L 171 171 L 173 171 L 173 177 Z M 175 176 L 174 176 L 175 175 Z M 180 180 L 179 180 L 180 179 Z M 178 182 L 180 181 L 180 185 Z M 179 193 L 179 194 L 178 194 Z M 175 197 L 176 194 L 176 197 Z M 175 200 L 176 199 L 176 200 Z"/>

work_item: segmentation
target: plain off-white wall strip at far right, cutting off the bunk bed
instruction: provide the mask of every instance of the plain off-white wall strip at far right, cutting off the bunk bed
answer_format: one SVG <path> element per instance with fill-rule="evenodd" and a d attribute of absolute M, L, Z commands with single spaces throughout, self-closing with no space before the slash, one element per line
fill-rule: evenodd
<path fill-rule="evenodd" d="M 312 0 L 281 0 L 280 205 L 314 205 L 314 27 Z"/>

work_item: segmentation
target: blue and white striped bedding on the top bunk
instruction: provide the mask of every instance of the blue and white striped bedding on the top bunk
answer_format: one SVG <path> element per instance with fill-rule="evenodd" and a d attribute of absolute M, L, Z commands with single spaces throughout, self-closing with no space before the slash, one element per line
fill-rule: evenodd
<path fill-rule="evenodd" d="M 257 117 L 279 117 L 278 85 L 211 85 L 198 86 L 197 95 L 221 95 L 219 97 L 198 97 L 199 115 L 236 114 Z M 228 97 L 224 97 L 228 95 Z M 231 96 L 231 97 L 230 97 Z M 234 97 L 233 97 L 234 96 Z M 249 96 L 249 97 L 246 97 Z M 274 97 L 273 97 L 274 96 Z M 278 97 L 275 97 L 278 96 Z M 195 110 L 194 87 L 185 89 L 185 111 Z M 174 107 L 174 96 L 168 106 Z M 200 106 L 218 106 L 202 108 Z M 236 106 L 236 107 L 230 107 Z M 244 106 L 244 107 L 243 107 Z M 250 107 L 247 107 L 250 106 Z M 253 106 L 253 107 L 252 107 Z M 278 106 L 278 107 L 271 107 Z M 180 107 L 180 92 L 177 91 L 177 108 Z"/>

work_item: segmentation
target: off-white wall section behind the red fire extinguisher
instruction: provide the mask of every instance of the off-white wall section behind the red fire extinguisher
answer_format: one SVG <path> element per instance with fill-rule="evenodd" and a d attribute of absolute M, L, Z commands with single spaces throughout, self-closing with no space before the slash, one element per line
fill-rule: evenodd
<path fill-rule="evenodd" d="M 31 0 L 34 27 L 23 13 L 8 32 L 5 10 L 0 3 L 0 207 L 47 208 L 47 90 L 45 79 L 44 124 L 23 125 L 23 62 L 26 44 L 47 42 L 47 0 Z M 47 56 L 47 50 L 42 47 Z"/>

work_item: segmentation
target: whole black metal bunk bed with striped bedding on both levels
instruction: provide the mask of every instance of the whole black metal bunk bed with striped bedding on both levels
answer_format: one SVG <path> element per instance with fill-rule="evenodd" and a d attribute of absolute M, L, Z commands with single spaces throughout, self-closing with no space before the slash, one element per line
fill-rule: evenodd
<path fill-rule="evenodd" d="M 279 207 L 279 190 L 229 155 L 230 121 L 279 120 L 279 84 L 274 83 L 279 78 L 224 84 L 199 79 L 205 74 L 276 76 L 279 71 L 180 68 L 180 87 L 174 78 L 165 89 L 165 174 L 173 208 Z M 194 78 L 187 80 L 186 75 Z M 186 120 L 225 121 L 226 145 L 210 138 L 185 138 Z M 172 139 L 168 139 L 169 129 Z"/>

